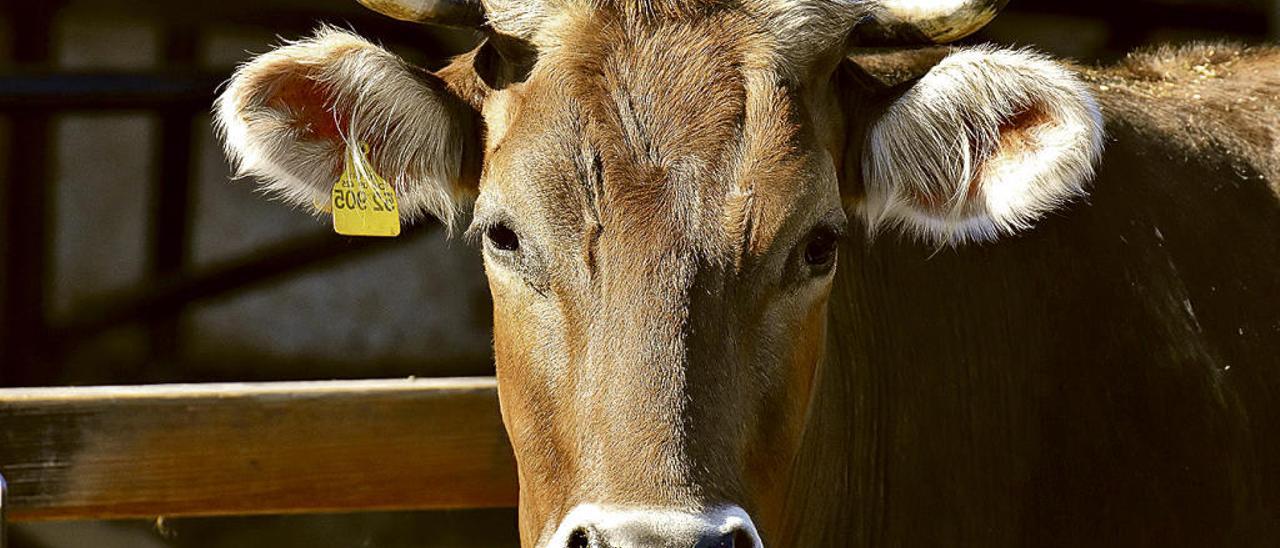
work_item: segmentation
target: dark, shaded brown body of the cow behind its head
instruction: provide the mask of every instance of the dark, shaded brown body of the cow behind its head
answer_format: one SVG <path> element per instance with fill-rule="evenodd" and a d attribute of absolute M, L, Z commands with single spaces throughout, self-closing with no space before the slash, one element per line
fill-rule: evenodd
<path fill-rule="evenodd" d="M 1166 50 L 1158 65 L 1196 67 L 1203 51 Z M 822 443 L 800 462 L 822 479 L 794 498 L 806 501 L 790 512 L 794 545 L 1280 539 L 1277 156 L 1256 131 L 1280 106 L 1274 51 L 1197 85 L 1219 106 L 1166 77 L 1158 96 L 1137 91 L 1149 73 L 1087 69 L 1110 87 L 1107 154 L 1088 202 L 1028 234 L 841 250 L 828 365 L 844 366 L 819 379 L 809 435 Z M 846 82 L 891 93 L 886 79 L 940 59 L 896 56 L 887 74 L 849 67 Z M 1210 117 L 1240 99 L 1257 119 Z M 850 496 L 831 508 L 831 492 Z M 846 517 L 813 524 L 832 513 Z"/>

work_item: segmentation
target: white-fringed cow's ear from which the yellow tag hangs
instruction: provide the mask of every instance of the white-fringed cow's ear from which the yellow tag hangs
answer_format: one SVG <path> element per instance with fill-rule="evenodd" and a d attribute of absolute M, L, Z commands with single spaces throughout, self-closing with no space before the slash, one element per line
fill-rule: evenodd
<path fill-rule="evenodd" d="M 404 220 L 430 214 L 452 227 L 476 192 L 471 106 L 349 32 L 325 27 L 242 65 L 215 118 L 237 174 L 293 205 L 328 204 L 347 147 L 361 145 Z"/>

